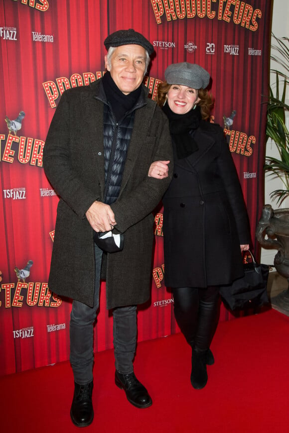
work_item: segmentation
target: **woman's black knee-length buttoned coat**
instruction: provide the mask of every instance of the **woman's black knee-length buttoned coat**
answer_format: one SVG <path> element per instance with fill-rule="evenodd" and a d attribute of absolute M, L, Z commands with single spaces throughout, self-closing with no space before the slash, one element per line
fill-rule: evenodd
<path fill-rule="evenodd" d="M 219 125 L 201 120 L 198 150 L 175 152 L 174 174 L 163 198 L 165 285 L 230 284 L 243 275 L 240 244 L 250 242 L 236 168 Z M 174 149 L 175 151 L 175 149 Z"/>

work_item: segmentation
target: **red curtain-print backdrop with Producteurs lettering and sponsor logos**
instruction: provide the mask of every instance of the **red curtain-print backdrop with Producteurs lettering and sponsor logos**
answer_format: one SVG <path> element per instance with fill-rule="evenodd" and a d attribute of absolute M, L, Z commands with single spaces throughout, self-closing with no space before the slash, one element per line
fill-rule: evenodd
<path fill-rule="evenodd" d="M 8 374 L 69 357 L 71 302 L 47 287 L 58 197 L 42 150 L 61 93 L 102 76 L 109 33 L 133 27 L 154 45 L 145 81 L 152 97 L 170 63 L 198 63 L 210 72 L 214 121 L 225 127 L 223 116 L 236 110 L 225 132 L 254 244 L 263 206 L 271 1 L 4 0 L 0 11 L 0 374 Z M 14 120 L 21 110 L 21 128 L 9 133 L 5 117 Z M 139 312 L 140 341 L 178 330 L 163 286 L 161 208 L 155 220 L 151 302 Z M 30 274 L 18 282 L 14 268 L 28 260 Z M 105 284 L 96 351 L 112 347 L 104 295 Z M 228 318 L 222 306 L 220 320 Z"/>

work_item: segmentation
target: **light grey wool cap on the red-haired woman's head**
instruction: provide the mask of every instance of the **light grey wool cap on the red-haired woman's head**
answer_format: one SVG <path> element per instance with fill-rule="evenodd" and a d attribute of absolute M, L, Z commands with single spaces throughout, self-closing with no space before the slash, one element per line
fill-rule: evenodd
<path fill-rule="evenodd" d="M 210 74 L 196 63 L 173 63 L 164 71 L 168 84 L 179 84 L 192 89 L 205 89 L 210 82 Z"/>

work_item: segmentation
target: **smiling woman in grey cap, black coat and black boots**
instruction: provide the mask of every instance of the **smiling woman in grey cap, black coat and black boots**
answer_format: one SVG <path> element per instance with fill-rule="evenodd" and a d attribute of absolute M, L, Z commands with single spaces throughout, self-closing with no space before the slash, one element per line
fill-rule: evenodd
<path fill-rule="evenodd" d="M 174 315 L 192 347 L 191 384 L 203 388 L 219 310 L 219 286 L 243 276 L 248 250 L 248 216 L 234 162 L 222 128 L 208 121 L 210 75 L 196 64 L 165 70 L 158 103 L 169 119 L 174 174 L 163 198 L 165 285 L 171 287 Z M 166 176 L 155 161 L 149 176 Z"/>

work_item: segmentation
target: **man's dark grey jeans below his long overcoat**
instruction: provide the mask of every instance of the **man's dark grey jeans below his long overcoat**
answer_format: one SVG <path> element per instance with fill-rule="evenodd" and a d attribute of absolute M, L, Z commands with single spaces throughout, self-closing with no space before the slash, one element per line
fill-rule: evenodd
<path fill-rule="evenodd" d="M 73 301 L 70 315 L 70 362 L 74 380 L 85 385 L 93 380 L 93 324 L 99 307 L 99 283 L 102 250 L 95 245 L 94 306 Z M 116 369 L 123 374 L 132 373 L 137 344 L 137 306 L 113 310 L 113 336 Z"/>

